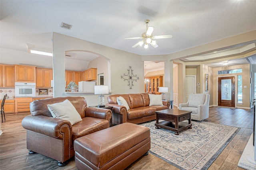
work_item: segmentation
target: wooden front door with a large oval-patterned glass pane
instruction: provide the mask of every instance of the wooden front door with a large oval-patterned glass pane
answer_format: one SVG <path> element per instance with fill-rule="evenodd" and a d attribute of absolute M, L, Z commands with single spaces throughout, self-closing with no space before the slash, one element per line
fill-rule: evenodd
<path fill-rule="evenodd" d="M 218 78 L 218 106 L 235 107 L 235 77 Z"/>

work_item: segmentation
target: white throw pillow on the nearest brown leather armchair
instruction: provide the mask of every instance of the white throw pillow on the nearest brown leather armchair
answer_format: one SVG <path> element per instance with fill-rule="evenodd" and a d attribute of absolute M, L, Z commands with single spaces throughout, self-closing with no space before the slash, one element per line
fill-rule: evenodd
<path fill-rule="evenodd" d="M 47 106 L 52 113 L 52 117 L 70 121 L 72 125 L 82 121 L 80 114 L 68 99 L 64 100 L 64 102 L 48 104 Z"/>

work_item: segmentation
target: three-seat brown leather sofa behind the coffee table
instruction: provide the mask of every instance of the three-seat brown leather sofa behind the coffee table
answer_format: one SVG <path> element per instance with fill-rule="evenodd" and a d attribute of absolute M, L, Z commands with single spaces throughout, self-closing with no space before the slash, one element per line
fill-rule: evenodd
<path fill-rule="evenodd" d="M 118 105 L 116 98 L 122 96 L 128 106 L 129 110 L 125 106 Z M 140 94 L 114 94 L 108 96 L 107 106 L 112 106 L 112 122 L 116 125 L 120 123 L 143 123 L 156 119 L 157 110 L 168 109 L 170 107 L 170 101 L 163 100 L 163 105 L 149 106 L 150 100 L 148 93 Z"/>

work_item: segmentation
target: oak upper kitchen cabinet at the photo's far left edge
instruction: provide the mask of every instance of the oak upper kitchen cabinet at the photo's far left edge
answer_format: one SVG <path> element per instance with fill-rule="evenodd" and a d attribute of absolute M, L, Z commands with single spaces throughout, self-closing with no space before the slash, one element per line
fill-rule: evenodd
<path fill-rule="evenodd" d="M 0 87 L 14 87 L 14 65 L 0 64 Z"/>

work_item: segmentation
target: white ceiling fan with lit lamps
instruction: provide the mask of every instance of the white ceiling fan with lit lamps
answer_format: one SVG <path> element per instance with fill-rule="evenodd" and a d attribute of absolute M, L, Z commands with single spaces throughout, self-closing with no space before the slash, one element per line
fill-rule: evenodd
<path fill-rule="evenodd" d="M 156 35 L 153 36 L 152 33 L 154 31 L 154 27 L 148 26 L 149 20 L 145 20 L 145 23 L 147 24 L 147 31 L 142 33 L 141 37 L 127 37 L 124 39 L 142 39 L 138 43 L 136 43 L 132 48 L 137 47 L 138 45 L 142 46 L 144 43 L 144 48 L 148 48 L 148 44 L 151 44 L 154 48 L 158 47 L 156 44 L 155 39 L 161 39 L 161 38 L 172 38 L 172 34 L 166 34 L 166 35 Z"/>

